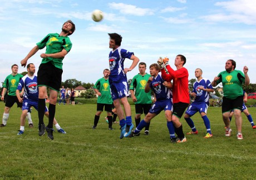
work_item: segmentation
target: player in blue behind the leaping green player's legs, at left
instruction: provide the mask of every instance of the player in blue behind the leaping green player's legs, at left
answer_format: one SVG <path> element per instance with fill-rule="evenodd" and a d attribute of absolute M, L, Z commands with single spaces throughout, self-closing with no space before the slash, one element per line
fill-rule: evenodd
<path fill-rule="evenodd" d="M 22 114 L 21 114 L 21 127 L 17 135 L 22 135 L 24 133 L 25 117 L 28 110 L 31 106 L 34 106 L 35 109 L 38 109 L 38 88 L 37 88 L 37 76 L 35 76 L 35 65 L 29 63 L 27 65 L 28 74 L 23 76 L 19 81 L 18 88 L 16 90 L 16 96 L 19 102 L 23 103 L 22 105 Z M 19 96 L 19 91 L 24 89 L 24 97 Z M 45 115 L 49 117 L 48 109 L 45 107 Z M 57 128 L 57 131 L 60 133 L 66 133 L 60 125 L 58 125 L 56 119 L 54 118 L 53 124 Z"/>

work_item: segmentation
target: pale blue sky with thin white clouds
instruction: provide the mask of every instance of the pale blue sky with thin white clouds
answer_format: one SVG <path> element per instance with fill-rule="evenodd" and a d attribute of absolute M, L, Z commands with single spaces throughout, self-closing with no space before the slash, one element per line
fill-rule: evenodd
<path fill-rule="evenodd" d="M 256 1 L 255 0 L 0 0 L 0 70 L 4 81 L 11 65 L 20 61 L 48 33 L 60 33 L 71 19 L 76 31 L 73 44 L 63 60 L 62 81 L 76 79 L 95 83 L 109 68 L 109 35 L 122 35 L 121 48 L 134 52 L 149 66 L 160 56 L 174 66 L 176 55 L 186 57 L 189 79 L 196 68 L 212 81 L 225 62 L 234 59 L 237 70 L 249 68 L 250 83 L 256 83 Z M 101 22 L 93 22 L 91 13 L 100 9 Z M 41 63 L 39 50 L 28 60 L 36 68 Z M 129 68 L 132 60 L 125 60 Z M 138 66 L 127 73 L 132 79 Z"/>

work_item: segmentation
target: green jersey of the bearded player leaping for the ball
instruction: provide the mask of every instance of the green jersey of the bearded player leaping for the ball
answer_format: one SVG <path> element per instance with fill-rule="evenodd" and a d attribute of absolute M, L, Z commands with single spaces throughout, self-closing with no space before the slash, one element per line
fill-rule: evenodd
<path fill-rule="evenodd" d="M 60 36 L 57 33 L 48 34 L 45 38 L 41 40 L 41 42 L 37 43 L 39 49 L 43 49 L 46 47 L 45 54 L 54 54 L 59 53 L 62 49 L 67 50 L 67 53 L 70 52 L 72 48 L 72 43 L 70 38 L 67 36 Z M 43 58 L 41 63 L 51 63 L 56 67 L 62 69 L 62 60 L 64 58 Z"/>

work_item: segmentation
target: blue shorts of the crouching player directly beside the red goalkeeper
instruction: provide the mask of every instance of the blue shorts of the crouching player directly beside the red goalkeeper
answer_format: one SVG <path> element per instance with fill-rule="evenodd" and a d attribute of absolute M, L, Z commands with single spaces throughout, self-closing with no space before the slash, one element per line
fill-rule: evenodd
<path fill-rule="evenodd" d="M 158 115 L 162 110 L 170 110 L 173 111 L 173 102 L 171 102 L 171 99 L 161 100 L 161 101 L 155 101 L 155 103 L 150 108 L 149 112 L 151 114 Z"/>

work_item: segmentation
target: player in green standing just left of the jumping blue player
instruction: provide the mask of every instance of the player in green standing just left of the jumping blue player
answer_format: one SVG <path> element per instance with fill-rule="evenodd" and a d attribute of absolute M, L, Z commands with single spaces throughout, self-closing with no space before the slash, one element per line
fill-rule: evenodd
<path fill-rule="evenodd" d="M 107 120 L 109 121 L 109 130 L 113 130 L 112 128 L 112 104 L 113 100 L 110 94 L 110 87 L 109 87 L 109 75 L 110 70 L 104 69 L 103 71 L 104 77 L 98 79 L 93 86 L 94 91 L 98 95 L 97 99 L 97 112 L 94 116 L 94 125 L 92 126 L 93 129 L 97 127 L 97 124 L 100 119 L 101 112 L 105 106 L 105 111 L 107 112 Z"/>

